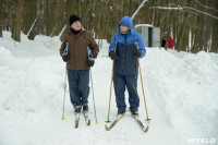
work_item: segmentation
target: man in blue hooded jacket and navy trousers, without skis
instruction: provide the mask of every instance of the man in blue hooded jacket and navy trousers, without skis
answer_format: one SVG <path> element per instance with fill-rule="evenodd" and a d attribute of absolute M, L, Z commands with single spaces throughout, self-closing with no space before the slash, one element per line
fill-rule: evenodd
<path fill-rule="evenodd" d="M 136 44 L 140 49 L 137 49 Z M 145 53 L 143 38 L 138 33 L 134 32 L 131 17 L 122 17 L 119 22 L 119 31 L 113 35 L 109 46 L 109 57 L 114 60 L 113 84 L 118 114 L 124 113 L 126 109 L 124 96 L 126 86 L 131 113 L 138 116 L 137 59 L 143 58 Z"/>

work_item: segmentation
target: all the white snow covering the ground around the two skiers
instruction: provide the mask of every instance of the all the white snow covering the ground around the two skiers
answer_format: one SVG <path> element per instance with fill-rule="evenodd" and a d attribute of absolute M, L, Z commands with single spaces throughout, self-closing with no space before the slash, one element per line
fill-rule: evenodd
<path fill-rule="evenodd" d="M 95 123 L 90 92 L 92 125 L 87 126 L 81 117 L 80 128 L 74 129 L 69 90 L 65 120 L 61 120 L 65 63 L 59 56 L 59 38 L 37 36 L 32 41 L 22 34 L 22 43 L 15 43 L 10 36 L 3 32 L 0 38 L 0 145 L 186 145 L 193 138 L 218 144 L 217 53 L 192 55 L 147 48 L 141 67 L 152 118 L 149 131 L 142 132 L 126 113 L 108 132 L 105 121 L 112 62 L 107 57 L 106 41 L 92 69 L 99 123 Z M 140 117 L 144 120 L 140 77 L 138 94 Z M 110 112 L 113 120 L 117 116 L 114 94 Z"/>

